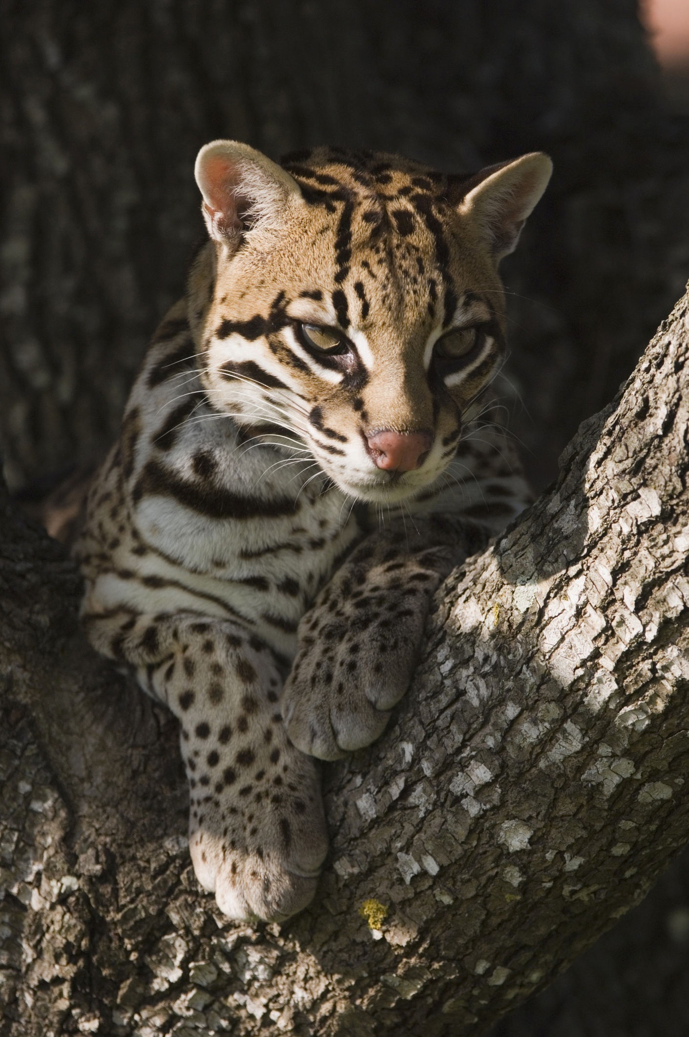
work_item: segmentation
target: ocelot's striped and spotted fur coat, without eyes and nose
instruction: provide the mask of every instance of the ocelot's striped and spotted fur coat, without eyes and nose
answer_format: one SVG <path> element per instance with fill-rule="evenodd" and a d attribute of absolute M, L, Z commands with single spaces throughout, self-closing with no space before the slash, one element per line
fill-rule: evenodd
<path fill-rule="evenodd" d="M 478 397 L 504 349 L 497 262 L 547 180 L 526 158 L 462 179 L 337 148 L 199 156 L 210 240 L 75 550 L 92 643 L 180 718 L 192 859 L 229 917 L 309 901 L 312 757 L 378 737 L 440 580 L 528 502 Z M 428 450 L 381 468 L 381 429 Z"/>

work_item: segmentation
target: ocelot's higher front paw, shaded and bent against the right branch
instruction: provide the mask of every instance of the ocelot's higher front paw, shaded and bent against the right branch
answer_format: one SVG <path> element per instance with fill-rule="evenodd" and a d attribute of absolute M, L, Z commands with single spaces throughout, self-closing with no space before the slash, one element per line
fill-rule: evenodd
<path fill-rule="evenodd" d="M 346 570 L 302 620 L 280 698 L 291 740 L 323 760 L 383 733 L 414 672 L 430 596 L 440 582 L 423 558 L 401 561 L 394 551 L 360 583 L 356 553 Z"/>

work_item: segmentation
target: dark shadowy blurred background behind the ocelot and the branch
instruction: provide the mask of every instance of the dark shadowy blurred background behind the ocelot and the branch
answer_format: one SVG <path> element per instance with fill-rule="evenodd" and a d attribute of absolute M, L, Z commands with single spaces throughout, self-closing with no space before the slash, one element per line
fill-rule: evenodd
<path fill-rule="evenodd" d="M 536 487 L 689 276 L 689 105 L 634 0 L 0 0 L 0 446 L 10 487 L 102 451 L 202 230 L 199 146 L 442 169 L 535 148 L 500 391 Z M 686 1035 L 689 863 L 501 1037 Z"/>

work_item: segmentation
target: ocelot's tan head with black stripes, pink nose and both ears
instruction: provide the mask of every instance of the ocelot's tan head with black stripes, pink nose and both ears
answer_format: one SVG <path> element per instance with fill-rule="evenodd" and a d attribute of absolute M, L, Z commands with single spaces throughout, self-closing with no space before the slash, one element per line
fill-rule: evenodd
<path fill-rule="evenodd" d="M 213 404 L 309 451 L 354 498 L 418 493 L 501 363 L 498 263 L 551 168 L 536 152 L 447 175 L 337 147 L 278 166 L 208 144 L 196 180 L 212 247 L 190 302 Z"/>

